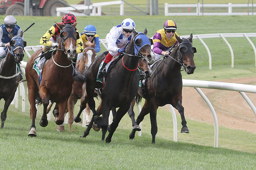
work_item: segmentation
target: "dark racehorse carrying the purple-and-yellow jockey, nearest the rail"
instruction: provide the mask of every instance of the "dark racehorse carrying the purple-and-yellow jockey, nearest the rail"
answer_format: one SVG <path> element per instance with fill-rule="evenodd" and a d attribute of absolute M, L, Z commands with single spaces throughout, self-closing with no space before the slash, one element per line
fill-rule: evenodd
<path fill-rule="evenodd" d="M 145 103 L 136 122 L 139 124 L 144 119 L 145 115 L 150 113 L 152 143 L 155 143 L 157 133 L 157 108 L 166 104 L 171 104 L 179 111 L 182 119 L 181 133 L 189 133 L 184 116 L 184 107 L 182 106 L 181 67 L 185 69 L 187 74 L 193 74 L 196 68 L 193 60 L 196 48 L 192 46 L 192 38 L 192 34 L 190 34 L 188 39 L 181 39 L 176 36 L 179 45 L 175 46 L 169 56 L 164 57 L 161 61 L 158 60 L 153 65 L 152 70 L 155 72 L 145 83 L 147 94 L 142 91 L 142 88 L 139 88 L 138 94 L 145 98 Z M 140 96 L 137 96 L 139 97 L 137 102 L 141 99 Z M 132 108 L 133 106 L 129 109 L 129 112 L 132 112 L 129 113 L 129 115 L 134 115 Z M 132 130 L 129 135 L 130 139 L 134 138 L 135 132 L 135 130 Z"/>

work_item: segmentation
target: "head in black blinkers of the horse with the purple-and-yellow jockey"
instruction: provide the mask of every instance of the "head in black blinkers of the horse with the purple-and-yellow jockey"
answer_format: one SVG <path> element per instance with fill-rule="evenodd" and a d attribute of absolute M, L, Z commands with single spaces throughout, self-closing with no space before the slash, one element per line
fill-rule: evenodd
<path fill-rule="evenodd" d="M 193 74 L 196 69 L 194 63 L 194 53 L 197 52 L 196 48 L 192 46 L 193 35 L 190 34 L 189 38 L 180 38 L 177 35 L 176 39 L 179 42 L 178 59 L 183 64 L 187 74 Z"/>

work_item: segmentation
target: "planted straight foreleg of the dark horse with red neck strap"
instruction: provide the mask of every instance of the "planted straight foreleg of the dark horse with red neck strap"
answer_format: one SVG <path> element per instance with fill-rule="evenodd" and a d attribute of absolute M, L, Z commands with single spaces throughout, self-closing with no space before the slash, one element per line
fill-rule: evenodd
<path fill-rule="evenodd" d="M 122 107 L 119 107 L 119 109 L 116 112 L 116 116 L 113 119 L 113 122 L 110 124 L 108 131 L 109 131 L 109 135 L 108 137 L 106 137 L 106 143 L 110 143 L 111 142 L 111 138 L 120 122 L 120 120 L 123 118 L 123 116 L 126 114 L 126 112 L 128 111 L 130 107 L 130 103 L 126 104 Z"/>

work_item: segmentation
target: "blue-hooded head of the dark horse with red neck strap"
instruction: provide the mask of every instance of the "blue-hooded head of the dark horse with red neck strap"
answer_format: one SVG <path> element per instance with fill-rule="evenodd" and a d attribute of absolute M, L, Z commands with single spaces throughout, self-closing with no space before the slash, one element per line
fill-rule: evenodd
<path fill-rule="evenodd" d="M 153 64 L 155 62 L 155 54 L 151 49 L 151 43 L 146 34 L 147 29 L 144 30 L 144 33 L 138 33 L 133 30 L 134 52 L 135 55 L 143 56 L 143 60 L 145 60 L 147 64 Z"/>

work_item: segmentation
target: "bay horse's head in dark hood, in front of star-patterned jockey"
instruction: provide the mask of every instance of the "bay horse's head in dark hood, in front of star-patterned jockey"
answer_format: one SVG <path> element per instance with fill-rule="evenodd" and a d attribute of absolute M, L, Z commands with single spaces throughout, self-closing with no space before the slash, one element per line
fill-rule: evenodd
<path fill-rule="evenodd" d="M 56 22 L 55 22 L 56 23 Z M 60 24 L 56 25 L 61 29 L 60 31 L 60 47 L 67 54 L 69 60 L 73 60 L 76 55 L 76 40 L 79 39 L 79 33 L 75 31 L 76 24 Z"/>

